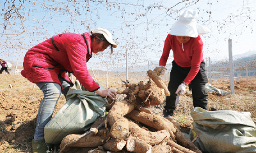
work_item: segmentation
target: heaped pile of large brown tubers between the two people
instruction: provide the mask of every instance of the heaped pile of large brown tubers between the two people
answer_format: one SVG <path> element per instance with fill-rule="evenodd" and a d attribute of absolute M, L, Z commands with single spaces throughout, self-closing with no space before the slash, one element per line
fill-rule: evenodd
<path fill-rule="evenodd" d="M 148 109 L 148 106 L 161 104 L 164 96 L 170 95 L 158 76 L 159 71 L 159 68 L 148 70 L 148 82 L 126 83 L 127 88 L 117 92 L 126 94 L 126 98 L 122 101 L 108 99 L 106 110 L 109 112 L 106 119 L 97 120 L 90 134 L 63 138 L 60 152 L 68 152 L 71 147 L 97 147 L 88 152 L 200 153 L 201 150 L 174 126 L 173 120 L 154 115 Z M 105 128 L 98 131 L 97 122 L 104 123 Z"/>

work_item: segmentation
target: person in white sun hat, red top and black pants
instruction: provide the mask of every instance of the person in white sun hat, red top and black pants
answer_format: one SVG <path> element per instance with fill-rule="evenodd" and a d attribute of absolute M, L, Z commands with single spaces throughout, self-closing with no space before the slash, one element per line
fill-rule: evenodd
<path fill-rule="evenodd" d="M 211 31 L 196 24 L 197 13 L 193 10 L 181 11 L 179 19 L 173 24 L 170 33 L 164 41 L 163 54 L 159 66 L 165 66 L 170 50 L 173 52 L 172 71 L 168 89 L 170 96 L 166 97 L 164 117 L 172 119 L 176 108 L 177 94 L 184 94 L 186 86 L 191 83 L 193 105 L 207 110 L 207 97 L 205 84 L 208 82 L 203 60 L 203 41 L 200 34 Z M 164 74 L 164 71 L 162 75 Z"/>

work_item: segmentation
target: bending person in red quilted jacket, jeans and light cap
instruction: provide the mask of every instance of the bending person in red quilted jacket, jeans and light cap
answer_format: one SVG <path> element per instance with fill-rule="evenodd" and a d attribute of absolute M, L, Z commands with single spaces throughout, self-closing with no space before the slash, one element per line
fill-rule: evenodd
<path fill-rule="evenodd" d="M 35 83 L 44 92 L 38 108 L 35 135 L 32 141 L 33 152 L 46 152 L 44 127 L 51 120 L 52 113 L 61 92 L 66 96 L 72 81 L 67 72 L 73 73 L 88 91 L 102 97 L 116 98 L 113 89 L 102 90 L 90 75 L 86 63 L 97 52 L 106 48 L 116 48 L 108 30 L 97 28 L 90 33 L 63 33 L 53 36 L 28 50 L 24 57 L 21 75 Z"/>

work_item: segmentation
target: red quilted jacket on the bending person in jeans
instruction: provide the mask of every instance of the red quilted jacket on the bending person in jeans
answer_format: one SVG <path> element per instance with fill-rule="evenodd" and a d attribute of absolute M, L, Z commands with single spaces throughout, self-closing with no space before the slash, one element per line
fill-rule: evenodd
<path fill-rule="evenodd" d="M 84 33 L 84 37 L 82 34 L 63 33 L 30 48 L 24 57 L 21 75 L 33 83 L 54 82 L 60 85 L 58 75 L 61 75 L 73 85 L 66 74 L 68 71 L 74 73 L 88 91 L 97 91 L 99 85 L 86 66 L 92 55 L 92 40 L 89 33 Z"/>

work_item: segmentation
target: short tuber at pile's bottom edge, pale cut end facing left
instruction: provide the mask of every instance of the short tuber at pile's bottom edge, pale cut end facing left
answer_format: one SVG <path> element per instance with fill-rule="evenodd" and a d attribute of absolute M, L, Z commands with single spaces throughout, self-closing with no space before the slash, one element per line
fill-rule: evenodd
<path fill-rule="evenodd" d="M 138 138 L 129 136 L 126 144 L 126 149 L 129 152 L 138 152 L 138 153 L 150 153 L 151 152 L 151 145 L 140 140 Z"/>

